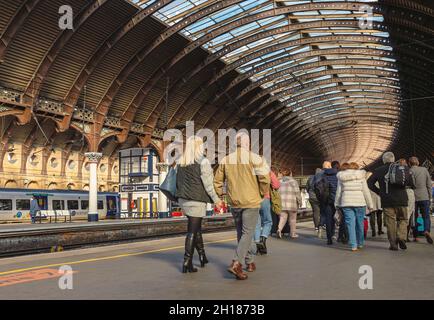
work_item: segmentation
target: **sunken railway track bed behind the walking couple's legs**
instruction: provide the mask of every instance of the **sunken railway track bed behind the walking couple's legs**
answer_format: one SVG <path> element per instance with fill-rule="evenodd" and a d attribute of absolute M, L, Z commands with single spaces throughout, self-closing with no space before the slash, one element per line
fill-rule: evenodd
<path fill-rule="evenodd" d="M 311 215 L 311 210 L 299 211 L 300 220 L 309 219 Z M 203 221 L 204 232 L 224 231 L 233 227 L 231 214 L 209 216 Z M 186 229 L 185 217 L 2 224 L 0 225 L 0 257 L 174 236 L 184 234 Z"/>

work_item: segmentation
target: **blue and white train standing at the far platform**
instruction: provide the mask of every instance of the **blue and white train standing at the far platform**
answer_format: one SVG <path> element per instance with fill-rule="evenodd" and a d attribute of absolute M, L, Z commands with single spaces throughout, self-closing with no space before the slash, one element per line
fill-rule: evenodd
<path fill-rule="evenodd" d="M 69 210 L 73 220 L 87 220 L 89 192 L 75 190 L 31 190 L 0 188 L 0 222 L 30 220 L 34 196 L 41 210 Z M 98 192 L 98 216 L 114 218 L 119 212 L 119 194 Z"/>

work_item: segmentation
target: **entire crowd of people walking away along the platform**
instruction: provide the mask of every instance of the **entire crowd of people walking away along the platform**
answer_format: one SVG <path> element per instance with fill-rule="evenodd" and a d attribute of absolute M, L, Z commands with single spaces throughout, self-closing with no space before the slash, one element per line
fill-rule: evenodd
<path fill-rule="evenodd" d="M 208 263 L 201 233 L 206 204 L 217 208 L 229 199 L 237 232 L 237 248 L 228 271 L 239 280 L 256 270 L 255 257 L 268 253 L 267 239 L 273 227 L 272 213 L 279 216 L 277 237 L 289 223 L 289 236 L 298 238 L 297 212 L 301 192 L 291 170 L 270 170 L 267 162 L 250 151 L 247 134 L 236 138 L 236 150 L 223 158 L 214 174 L 199 137 L 187 140 L 185 152 L 176 166 L 176 198 L 188 217 L 188 233 L 182 271 L 197 272 L 194 250 L 201 267 Z M 234 162 L 233 160 L 236 159 Z M 248 159 L 248 161 L 245 161 Z M 418 241 L 418 222 L 423 219 L 423 236 L 433 244 L 430 234 L 431 176 L 416 157 L 395 162 L 391 152 L 384 153 L 383 165 L 373 172 L 361 170 L 357 163 L 325 161 L 322 169 L 307 180 L 306 190 L 312 207 L 315 232 L 327 245 L 333 241 L 348 244 L 353 252 L 365 247 L 366 227 L 371 236 L 387 230 L 389 249 L 407 249 L 409 235 Z M 336 237 L 336 228 L 338 235 Z M 243 268 L 245 266 L 245 268 Z"/>

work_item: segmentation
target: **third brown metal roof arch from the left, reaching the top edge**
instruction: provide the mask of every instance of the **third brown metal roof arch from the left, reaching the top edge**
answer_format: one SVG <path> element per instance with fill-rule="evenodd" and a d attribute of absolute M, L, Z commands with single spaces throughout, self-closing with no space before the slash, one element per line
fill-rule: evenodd
<path fill-rule="evenodd" d="M 69 89 L 63 101 L 64 110 L 67 115 L 59 124 L 59 130 L 67 130 L 72 119 L 74 107 L 79 99 L 80 92 L 86 84 L 90 75 L 95 71 L 96 67 L 101 63 L 103 58 L 111 51 L 111 49 L 133 28 L 135 28 L 145 18 L 149 17 L 159 9 L 168 5 L 173 0 L 159 0 L 154 4 L 140 10 L 127 23 L 122 25 L 117 31 L 111 34 L 107 40 L 89 57 L 86 65 L 81 69 L 79 75 L 75 79 L 73 85 Z"/>

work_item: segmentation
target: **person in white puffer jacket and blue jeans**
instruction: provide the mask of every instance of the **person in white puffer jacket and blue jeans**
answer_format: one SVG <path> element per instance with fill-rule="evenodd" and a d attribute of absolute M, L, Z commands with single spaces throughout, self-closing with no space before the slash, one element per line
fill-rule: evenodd
<path fill-rule="evenodd" d="M 357 163 L 343 164 L 338 175 L 335 206 L 342 209 L 348 228 L 352 251 L 363 248 L 364 217 L 366 208 L 372 210 L 371 193 L 366 183 L 366 172 L 359 170 Z"/>

